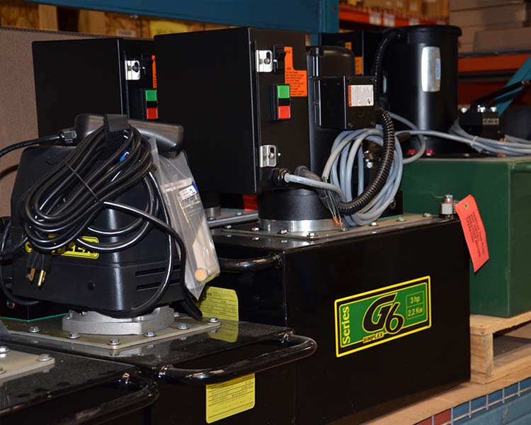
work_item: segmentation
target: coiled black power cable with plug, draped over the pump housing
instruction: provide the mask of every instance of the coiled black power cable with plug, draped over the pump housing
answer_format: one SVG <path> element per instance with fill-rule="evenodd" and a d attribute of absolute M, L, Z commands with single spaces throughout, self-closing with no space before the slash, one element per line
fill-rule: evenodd
<path fill-rule="evenodd" d="M 58 139 L 59 137 L 55 137 L 54 140 Z M 36 145 L 47 141 L 50 140 L 30 142 L 31 145 Z M 28 143 L 23 142 L 18 144 L 18 147 L 28 146 Z M 10 148 L 16 149 L 15 146 Z M 161 284 L 142 305 L 130 310 L 100 312 L 112 317 L 135 317 L 152 311 L 169 288 L 177 245 L 185 297 L 183 307 L 188 314 L 198 317 L 198 309 L 194 308 L 195 305 L 184 285 L 185 245 L 171 227 L 159 184 L 152 173 L 152 165 L 151 147 L 137 129 L 131 127 L 125 131 L 109 133 L 102 127 L 92 132 L 81 140 L 62 162 L 35 181 L 24 193 L 19 213 L 25 235 L 21 241 L 14 242 L 11 249 L 4 250 L 10 231 L 10 224 L 6 225 L 0 252 L 2 259 L 21 249 L 25 242 L 30 242 L 33 247 L 30 261 L 38 261 L 35 257 L 40 257 L 40 263 L 43 263 L 42 258 L 51 261 L 52 251 L 69 246 L 72 242 L 100 253 L 121 251 L 140 242 L 155 226 L 167 234 L 168 240 L 166 270 Z M 147 193 L 145 210 L 114 201 L 140 182 Z M 136 219 L 120 229 L 98 228 L 93 225 L 93 221 L 105 208 L 124 212 Z M 106 243 L 89 242 L 82 239 L 86 232 L 102 237 L 120 237 L 120 240 Z M 6 290 L 1 278 L 0 283 L 6 297 L 12 302 L 25 305 L 28 305 L 28 302 L 34 303 L 17 299 Z"/>

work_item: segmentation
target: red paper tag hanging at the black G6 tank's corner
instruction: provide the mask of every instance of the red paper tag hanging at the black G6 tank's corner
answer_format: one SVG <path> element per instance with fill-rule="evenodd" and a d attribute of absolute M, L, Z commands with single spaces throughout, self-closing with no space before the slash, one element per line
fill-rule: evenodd
<path fill-rule="evenodd" d="M 467 241 L 470 258 L 474 266 L 474 273 L 481 268 L 489 259 L 489 246 L 486 242 L 485 227 L 474 196 L 469 195 L 455 205 L 461 227 L 464 232 L 464 239 Z"/>

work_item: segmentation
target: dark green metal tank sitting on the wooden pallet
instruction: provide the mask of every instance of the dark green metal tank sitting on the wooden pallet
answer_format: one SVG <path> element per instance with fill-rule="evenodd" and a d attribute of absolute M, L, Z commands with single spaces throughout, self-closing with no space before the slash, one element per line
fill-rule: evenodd
<path fill-rule="evenodd" d="M 405 212 L 438 213 L 445 193 L 456 200 L 472 194 L 490 259 L 477 273 L 471 269 L 471 312 L 510 317 L 531 310 L 531 157 L 421 159 L 404 166 L 402 190 Z"/>

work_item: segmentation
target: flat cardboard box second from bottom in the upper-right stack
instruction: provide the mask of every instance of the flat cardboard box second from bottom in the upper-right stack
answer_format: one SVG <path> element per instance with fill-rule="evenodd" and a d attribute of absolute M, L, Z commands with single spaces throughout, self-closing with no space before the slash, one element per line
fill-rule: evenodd
<path fill-rule="evenodd" d="M 526 4 L 509 4 L 466 11 L 452 11 L 450 24 L 460 27 L 491 25 L 496 23 L 513 23 L 527 21 Z"/>

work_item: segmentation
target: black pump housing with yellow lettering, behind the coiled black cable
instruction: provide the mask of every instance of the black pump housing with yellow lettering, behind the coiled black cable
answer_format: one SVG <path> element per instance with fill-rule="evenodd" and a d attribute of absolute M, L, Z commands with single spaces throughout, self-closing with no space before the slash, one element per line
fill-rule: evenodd
<path fill-rule="evenodd" d="M 74 147 L 31 147 L 25 149 L 18 166 L 11 196 L 11 234 L 13 241 L 23 235 L 23 223 L 19 208 L 25 191 L 64 159 Z M 145 208 L 146 190 L 142 183 L 118 197 L 117 202 Z M 132 217 L 115 210 L 105 209 L 94 225 L 119 229 L 132 222 Z M 94 237 L 87 232 L 86 237 Z M 101 238 L 99 242 L 116 242 L 116 238 Z M 93 242 L 96 242 L 93 240 Z M 82 310 L 129 310 L 141 305 L 159 287 L 166 268 L 167 238 L 159 229 L 153 228 L 138 244 L 112 254 L 90 252 L 69 246 L 61 255 L 53 255 L 50 272 L 45 282 L 38 287 L 28 280 L 28 251 L 13 260 L 13 293 L 20 297 L 45 300 Z M 173 270 L 173 278 L 161 299 L 161 305 L 182 301 L 188 295 L 179 281 L 179 262 Z M 189 295 L 188 295 L 189 297 Z M 34 318 L 34 317 L 24 317 Z"/>

